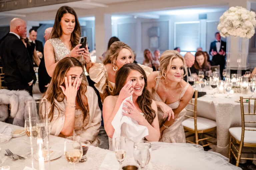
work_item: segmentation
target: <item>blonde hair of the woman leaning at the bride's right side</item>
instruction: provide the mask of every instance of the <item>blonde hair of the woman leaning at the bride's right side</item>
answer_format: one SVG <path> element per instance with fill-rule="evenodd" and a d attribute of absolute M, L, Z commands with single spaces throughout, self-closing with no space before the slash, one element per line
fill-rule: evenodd
<path fill-rule="evenodd" d="M 187 75 L 187 65 L 186 62 L 184 60 L 184 58 L 180 55 L 180 53 L 176 50 L 166 50 L 162 53 L 162 55 L 160 56 L 159 62 L 160 62 L 160 77 L 156 77 L 156 78 L 161 78 L 163 77 L 164 79 L 166 79 L 165 77 L 165 73 L 170 69 L 171 65 L 170 63 L 172 62 L 173 59 L 175 58 L 179 58 L 182 60 L 183 62 L 183 67 L 185 70 L 185 74 L 183 75 L 186 76 Z"/>

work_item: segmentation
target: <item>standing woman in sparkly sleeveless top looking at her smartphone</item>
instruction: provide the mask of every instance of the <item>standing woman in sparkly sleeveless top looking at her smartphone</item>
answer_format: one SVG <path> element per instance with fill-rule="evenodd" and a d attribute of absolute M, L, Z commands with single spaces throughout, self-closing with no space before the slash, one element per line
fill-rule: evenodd
<path fill-rule="evenodd" d="M 44 45 L 44 58 L 47 73 L 52 77 L 58 61 L 74 57 L 82 65 L 91 66 L 88 48 L 79 48 L 80 24 L 76 12 L 68 6 L 58 9 L 50 39 Z"/>

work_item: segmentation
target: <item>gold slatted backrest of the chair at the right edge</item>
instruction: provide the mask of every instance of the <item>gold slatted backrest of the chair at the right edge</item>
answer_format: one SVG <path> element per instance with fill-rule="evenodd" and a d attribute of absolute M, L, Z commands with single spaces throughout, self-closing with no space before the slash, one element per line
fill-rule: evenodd
<path fill-rule="evenodd" d="M 248 100 L 248 113 L 244 112 L 244 100 Z M 251 113 L 251 100 L 253 101 L 253 113 Z M 242 118 L 242 135 L 241 135 L 241 143 L 243 143 L 244 141 L 244 131 L 245 130 L 251 130 L 251 131 L 256 131 L 256 129 L 252 129 L 249 127 L 255 127 L 256 122 L 254 120 L 256 120 L 256 114 L 255 114 L 255 108 L 256 108 L 256 98 L 243 98 L 242 96 L 240 96 L 240 106 L 241 106 L 241 118 Z M 248 115 L 245 116 L 244 115 Z M 249 127 L 245 127 L 245 123 L 247 123 L 247 125 L 249 125 Z M 255 124 L 255 125 L 253 125 Z"/>

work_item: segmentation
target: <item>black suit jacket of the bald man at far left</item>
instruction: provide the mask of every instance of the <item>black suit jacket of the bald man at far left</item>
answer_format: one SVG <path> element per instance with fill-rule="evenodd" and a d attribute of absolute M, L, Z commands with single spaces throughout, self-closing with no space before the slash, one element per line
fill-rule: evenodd
<path fill-rule="evenodd" d="M 6 83 L 28 84 L 36 75 L 30 56 L 24 43 L 14 34 L 9 33 L 0 44 L 0 56 Z"/>

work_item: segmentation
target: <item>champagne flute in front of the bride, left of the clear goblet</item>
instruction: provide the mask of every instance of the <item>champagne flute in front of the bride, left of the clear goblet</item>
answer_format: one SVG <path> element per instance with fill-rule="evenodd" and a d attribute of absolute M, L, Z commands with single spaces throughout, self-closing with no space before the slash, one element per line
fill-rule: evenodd
<path fill-rule="evenodd" d="M 116 159 L 119 162 L 119 169 L 122 170 L 122 162 L 124 161 L 126 155 L 126 141 L 125 137 L 117 137 L 115 138 L 115 153 Z"/>

